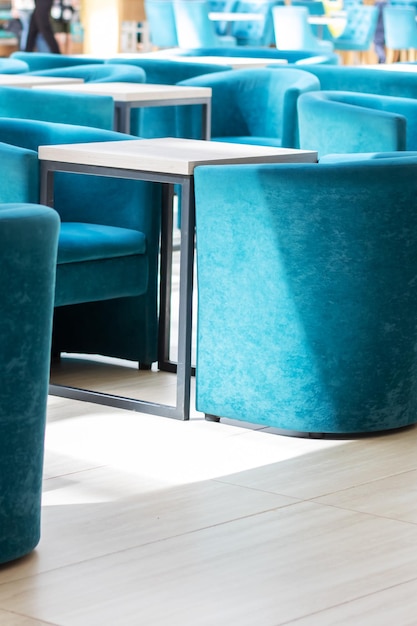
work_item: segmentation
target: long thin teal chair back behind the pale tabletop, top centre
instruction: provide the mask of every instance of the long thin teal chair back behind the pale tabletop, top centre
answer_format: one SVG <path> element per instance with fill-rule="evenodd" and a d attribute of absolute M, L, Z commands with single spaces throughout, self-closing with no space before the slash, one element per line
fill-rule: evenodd
<path fill-rule="evenodd" d="M 316 63 L 337 65 L 340 58 L 337 54 L 326 54 L 317 56 L 317 50 L 277 50 L 259 46 L 235 46 L 232 48 L 177 48 L 171 51 L 171 55 L 178 56 L 226 56 L 226 57 L 261 57 L 271 59 L 285 59 L 288 63 L 304 65 L 310 63 L 311 59 L 317 59 Z M 276 66 L 275 66 L 276 67 Z M 151 81 L 148 81 L 151 82 Z"/>

